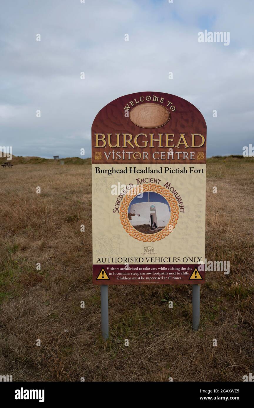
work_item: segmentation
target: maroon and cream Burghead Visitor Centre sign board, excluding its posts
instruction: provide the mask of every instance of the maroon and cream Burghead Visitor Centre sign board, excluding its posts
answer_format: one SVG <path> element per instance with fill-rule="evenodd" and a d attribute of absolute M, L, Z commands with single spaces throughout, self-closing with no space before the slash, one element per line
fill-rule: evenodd
<path fill-rule="evenodd" d="M 206 124 L 175 95 L 138 92 L 92 125 L 93 283 L 202 284 Z"/>

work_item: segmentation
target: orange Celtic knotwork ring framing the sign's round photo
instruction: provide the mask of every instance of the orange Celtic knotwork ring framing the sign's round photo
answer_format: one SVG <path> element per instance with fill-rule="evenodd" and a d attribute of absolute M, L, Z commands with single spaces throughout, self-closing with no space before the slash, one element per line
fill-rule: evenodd
<path fill-rule="evenodd" d="M 121 220 L 121 223 L 125 231 L 129 235 L 131 235 L 131 237 L 138 239 L 138 241 L 144 241 L 144 242 L 159 241 L 160 239 L 167 237 L 167 235 L 169 235 L 173 231 L 171 228 L 171 225 L 173 226 L 173 229 L 175 228 L 177 224 L 177 220 L 178 220 L 178 215 L 179 215 L 178 204 L 177 204 L 176 199 L 174 198 L 174 195 L 170 193 L 170 191 L 167 188 L 163 186 L 159 186 L 158 184 L 151 184 L 151 183 L 142 184 L 142 186 L 143 186 L 143 190 L 142 190 L 143 193 L 146 193 L 147 191 L 152 191 L 154 193 L 158 193 L 162 195 L 167 200 L 167 202 L 169 203 L 170 210 L 171 210 L 171 217 L 170 217 L 169 223 L 165 226 L 165 228 L 163 228 L 162 230 L 154 234 L 143 234 L 137 231 L 134 228 L 134 226 L 131 225 L 131 223 L 129 222 L 129 218 L 128 218 L 128 207 L 129 207 L 131 200 L 133 200 L 134 197 L 136 197 L 136 195 L 140 194 L 140 189 L 138 189 L 137 191 L 137 188 L 133 188 L 132 190 L 128 192 L 128 194 L 126 194 L 123 197 L 123 201 L 120 205 L 120 220 Z"/>

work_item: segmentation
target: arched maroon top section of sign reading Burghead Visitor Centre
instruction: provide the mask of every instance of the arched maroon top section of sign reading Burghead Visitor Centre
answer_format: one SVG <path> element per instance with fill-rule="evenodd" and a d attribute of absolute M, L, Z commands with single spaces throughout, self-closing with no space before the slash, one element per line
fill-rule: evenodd
<path fill-rule="evenodd" d="M 104 106 L 92 125 L 94 164 L 205 164 L 206 123 L 176 95 L 137 92 Z"/>

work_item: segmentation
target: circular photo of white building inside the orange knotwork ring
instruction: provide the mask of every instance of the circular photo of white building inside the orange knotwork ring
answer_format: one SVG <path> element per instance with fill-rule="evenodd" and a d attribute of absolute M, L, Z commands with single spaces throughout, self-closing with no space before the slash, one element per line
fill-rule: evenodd
<path fill-rule="evenodd" d="M 130 224 L 139 232 L 154 234 L 161 231 L 171 218 L 167 200 L 158 193 L 148 191 L 136 195 L 128 207 Z"/>

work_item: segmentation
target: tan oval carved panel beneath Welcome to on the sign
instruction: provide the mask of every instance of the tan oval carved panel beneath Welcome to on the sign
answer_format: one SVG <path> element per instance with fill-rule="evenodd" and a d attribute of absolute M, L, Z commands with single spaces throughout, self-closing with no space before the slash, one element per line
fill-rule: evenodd
<path fill-rule="evenodd" d="M 165 108 L 155 103 L 145 103 L 135 106 L 129 118 L 135 125 L 143 128 L 155 128 L 165 125 L 170 119 L 170 113 Z"/>

